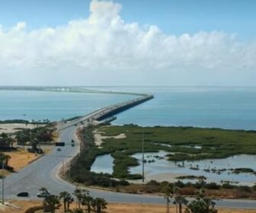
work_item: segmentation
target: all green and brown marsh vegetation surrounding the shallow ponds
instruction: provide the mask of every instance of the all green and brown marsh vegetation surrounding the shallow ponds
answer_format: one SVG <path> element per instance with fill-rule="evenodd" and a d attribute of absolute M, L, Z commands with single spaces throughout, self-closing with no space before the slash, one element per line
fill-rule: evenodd
<path fill-rule="evenodd" d="M 256 132 L 253 131 L 192 127 L 143 128 L 133 125 L 97 126 L 96 128 L 99 132 L 103 132 L 101 133 L 102 135 L 117 136 L 120 133 L 124 133 L 126 138 L 106 138 L 101 144 L 101 148 L 98 148 L 94 145 L 94 135 L 92 133 L 94 128 L 89 127 L 79 132 L 84 142 L 82 144 L 82 153 L 72 163 L 72 180 L 86 185 L 110 187 L 120 192 L 160 192 L 166 183 L 158 183 L 152 180 L 146 184 L 130 184 L 125 180 L 118 181 L 113 179 L 113 177 L 141 178 L 140 174 L 131 176 L 128 172 L 128 167 L 139 163 L 131 155 L 141 152 L 143 132 L 145 135 L 144 150 L 145 152 L 155 152 L 155 155 L 152 155 L 155 158 L 158 157 L 158 150 L 178 152 L 177 156 L 184 154 L 179 161 L 186 160 L 186 156 L 204 159 L 207 155 L 208 157 L 216 158 L 220 156 L 217 151 L 221 153 L 222 157 L 228 157 L 233 154 L 255 154 L 254 152 L 256 152 L 256 149 L 254 149 L 256 145 Z M 114 157 L 113 175 L 89 171 L 95 158 L 101 154 L 111 154 Z M 171 155 L 168 157 L 171 160 Z M 192 169 L 197 169 L 197 167 Z M 239 172 L 249 172 L 246 168 L 238 170 Z M 175 186 L 181 188 L 181 195 L 184 196 L 195 196 L 197 189 L 205 189 L 207 195 L 212 196 L 226 196 L 228 192 L 229 196 L 236 198 L 256 197 L 256 187 L 233 186 L 230 183 L 223 183 L 222 185 L 205 183 L 203 176 L 181 176 L 179 178 L 199 179 L 197 183 L 182 183 L 181 181 L 175 183 Z"/>

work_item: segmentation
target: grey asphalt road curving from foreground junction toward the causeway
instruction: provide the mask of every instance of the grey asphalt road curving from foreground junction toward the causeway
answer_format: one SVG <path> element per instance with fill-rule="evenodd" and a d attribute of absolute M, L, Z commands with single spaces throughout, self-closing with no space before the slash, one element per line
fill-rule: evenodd
<path fill-rule="evenodd" d="M 96 113 L 90 113 L 88 116 L 83 117 L 84 125 L 88 125 L 88 121 L 102 113 L 98 110 Z M 71 141 L 74 138 L 74 133 L 78 126 L 75 123 L 81 123 L 78 119 L 77 122 L 72 122 L 72 126 L 64 125 L 65 128 L 59 128 L 60 141 Z M 62 126 L 62 127 L 63 127 Z M 40 187 L 46 187 L 52 194 L 59 194 L 62 191 L 72 193 L 75 186 L 71 183 L 62 180 L 58 176 L 58 170 L 62 170 L 62 164 L 69 161 L 72 157 L 78 154 L 79 146 L 72 147 L 66 145 L 62 147 L 61 151 L 56 148 L 37 161 L 34 161 L 29 166 L 25 167 L 18 173 L 14 173 L 5 179 L 5 199 L 19 199 L 16 194 L 18 192 L 29 192 L 29 199 L 38 199 L 37 192 Z M 2 190 L 2 188 L 0 188 Z M 160 196 L 145 196 L 134 195 L 120 192 L 107 192 L 98 189 L 89 189 L 91 196 L 103 197 L 107 202 L 133 202 L 133 203 L 165 203 L 165 200 Z M 24 198 L 23 198 L 24 199 Z M 238 200 L 238 199 L 224 199 L 216 201 L 216 206 L 227 208 L 255 208 L 256 201 L 251 200 Z"/>

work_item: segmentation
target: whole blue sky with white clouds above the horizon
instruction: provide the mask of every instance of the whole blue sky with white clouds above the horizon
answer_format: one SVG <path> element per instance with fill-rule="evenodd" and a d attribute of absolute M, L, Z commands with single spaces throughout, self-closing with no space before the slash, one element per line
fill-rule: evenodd
<path fill-rule="evenodd" d="M 0 1 L 0 84 L 256 86 L 254 8 L 254 0 Z"/>

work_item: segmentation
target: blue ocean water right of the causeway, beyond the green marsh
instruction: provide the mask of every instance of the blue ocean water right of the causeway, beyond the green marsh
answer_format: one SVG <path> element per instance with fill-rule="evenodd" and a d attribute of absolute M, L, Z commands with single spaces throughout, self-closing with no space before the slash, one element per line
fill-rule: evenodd
<path fill-rule="evenodd" d="M 121 113 L 114 124 L 256 129 L 256 87 L 138 87 L 130 91 L 133 89 L 155 98 Z"/>

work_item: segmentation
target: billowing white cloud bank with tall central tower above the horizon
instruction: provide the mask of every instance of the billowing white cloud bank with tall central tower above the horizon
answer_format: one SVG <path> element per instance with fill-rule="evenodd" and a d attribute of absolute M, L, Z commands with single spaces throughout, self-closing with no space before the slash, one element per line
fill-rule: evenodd
<path fill-rule="evenodd" d="M 0 83 L 256 85 L 255 42 L 217 31 L 168 35 L 126 23 L 121 9 L 92 0 L 88 18 L 63 26 L 0 27 Z"/>

